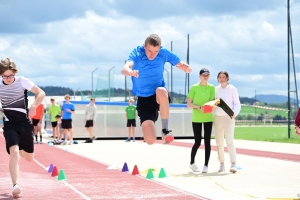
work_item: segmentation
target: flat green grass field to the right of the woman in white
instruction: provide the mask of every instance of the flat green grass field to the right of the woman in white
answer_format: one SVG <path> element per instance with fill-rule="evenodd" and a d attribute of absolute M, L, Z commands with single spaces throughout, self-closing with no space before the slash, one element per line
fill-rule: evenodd
<path fill-rule="evenodd" d="M 300 136 L 295 134 L 293 125 L 291 126 L 290 138 L 288 138 L 287 126 L 235 127 L 234 138 L 300 144 Z"/>

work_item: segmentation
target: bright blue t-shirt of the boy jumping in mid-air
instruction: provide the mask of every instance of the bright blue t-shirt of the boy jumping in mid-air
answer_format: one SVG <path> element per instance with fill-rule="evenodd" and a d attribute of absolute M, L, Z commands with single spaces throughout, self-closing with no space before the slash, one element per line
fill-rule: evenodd
<path fill-rule="evenodd" d="M 145 48 L 138 46 L 129 55 L 128 61 L 133 61 L 132 70 L 139 70 L 139 77 L 131 77 L 132 94 L 140 97 L 149 97 L 155 94 L 158 87 L 165 87 L 164 66 L 166 62 L 177 65 L 180 59 L 168 49 L 161 47 L 157 56 L 149 60 Z"/>

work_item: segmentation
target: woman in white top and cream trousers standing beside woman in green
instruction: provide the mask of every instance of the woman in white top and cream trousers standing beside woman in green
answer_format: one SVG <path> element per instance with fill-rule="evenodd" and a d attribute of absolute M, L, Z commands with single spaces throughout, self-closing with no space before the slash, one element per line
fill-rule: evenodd
<path fill-rule="evenodd" d="M 241 111 L 241 103 L 237 89 L 228 83 L 229 74 L 226 71 L 220 71 L 218 73 L 219 86 L 216 87 L 216 99 L 223 99 L 225 103 L 233 110 L 234 115 L 229 115 L 220 107 L 216 106 L 214 111 L 214 129 L 215 139 L 217 145 L 217 152 L 220 161 L 219 172 L 225 171 L 224 166 L 224 134 L 226 138 L 226 145 L 229 152 L 231 167 L 230 172 L 237 172 L 236 168 L 236 150 L 234 146 L 234 129 L 235 129 L 235 117 Z"/>

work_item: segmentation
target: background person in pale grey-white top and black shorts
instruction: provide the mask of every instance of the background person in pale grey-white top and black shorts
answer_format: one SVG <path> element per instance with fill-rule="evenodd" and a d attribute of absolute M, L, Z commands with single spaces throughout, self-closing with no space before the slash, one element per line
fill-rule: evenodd
<path fill-rule="evenodd" d="M 95 105 L 95 99 L 91 98 L 90 103 L 85 108 L 85 119 L 84 124 L 86 130 L 90 134 L 90 138 L 85 141 L 85 143 L 93 143 L 93 140 L 97 139 L 93 133 L 93 126 L 97 118 L 97 107 Z"/>

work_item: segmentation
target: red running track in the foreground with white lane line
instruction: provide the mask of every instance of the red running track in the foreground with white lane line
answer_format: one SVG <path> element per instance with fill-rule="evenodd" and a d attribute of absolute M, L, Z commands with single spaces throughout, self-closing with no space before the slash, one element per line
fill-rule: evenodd
<path fill-rule="evenodd" d="M 13 199 L 8 172 L 9 156 L 0 134 L 0 199 Z M 35 145 L 34 162 L 20 159 L 21 200 L 47 199 L 205 199 L 176 188 L 170 188 L 141 176 L 120 170 L 107 170 L 106 165 L 63 151 L 47 144 Z M 58 181 L 43 167 L 50 164 L 63 169 L 66 181 Z M 72 189 L 73 188 L 73 189 Z"/>

